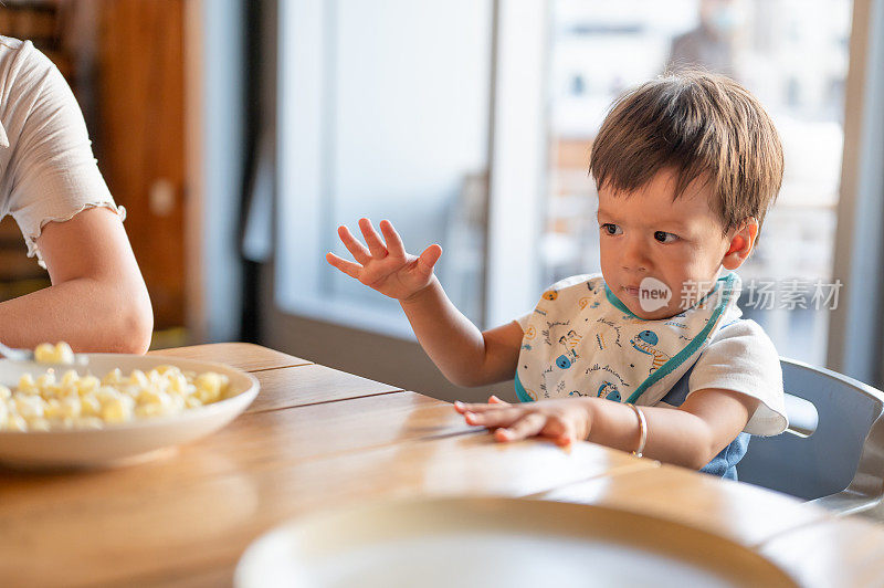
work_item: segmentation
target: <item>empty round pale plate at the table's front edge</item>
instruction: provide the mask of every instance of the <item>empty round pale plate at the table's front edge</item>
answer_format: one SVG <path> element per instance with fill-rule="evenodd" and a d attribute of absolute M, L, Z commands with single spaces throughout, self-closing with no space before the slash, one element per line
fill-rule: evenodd
<path fill-rule="evenodd" d="M 235 585 L 796 586 L 760 555 L 706 532 L 520 498 L 382 502 L 297 519 L 246 549 Z"/>

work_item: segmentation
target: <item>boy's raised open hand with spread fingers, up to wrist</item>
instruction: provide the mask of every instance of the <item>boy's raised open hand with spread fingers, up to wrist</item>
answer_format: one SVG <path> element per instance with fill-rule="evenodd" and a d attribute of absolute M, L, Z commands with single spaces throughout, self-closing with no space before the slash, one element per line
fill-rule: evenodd
<path fill-rule="evenodd" d="M 359 242 L 347 227 L 338 227 L 338 237 L 356 263 L 327 253 L 328 263 L 397 300 L 409 298 L 432 283 L 433 266 L 442 255 L 441 246 L 433 244 L 423 250 L 420 256 L 411 255 L 406 252 L 402 239 L 390 221 L 380 221 L 383 240 L 368 219 L 359 219 L 359 229 L 368 246 Z"/>

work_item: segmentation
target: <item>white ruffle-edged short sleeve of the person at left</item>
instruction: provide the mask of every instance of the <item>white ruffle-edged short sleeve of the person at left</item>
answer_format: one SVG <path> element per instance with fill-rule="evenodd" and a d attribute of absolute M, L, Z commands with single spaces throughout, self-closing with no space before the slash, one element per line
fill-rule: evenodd
<path fill-rule="evenodd" d="M 51 221 L 93 207 L 117 209 L 92 154 L 83 114 L 55 65 L 30 42 L 21 44 L 8 85 L 4 117 L 14 151 L 9 161 L 8 212 L 30 256 Z"/>

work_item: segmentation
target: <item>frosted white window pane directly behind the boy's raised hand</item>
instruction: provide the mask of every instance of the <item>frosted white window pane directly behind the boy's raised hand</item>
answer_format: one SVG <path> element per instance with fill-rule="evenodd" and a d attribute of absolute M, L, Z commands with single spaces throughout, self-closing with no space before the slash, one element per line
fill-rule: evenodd
<path fill-rule="evenodd" d="M 339 274 L 336 228 L 389 219 L 477 318 L 484 271 L 492 3 L 280 3 L 276 300 L 283 311 L 410 334 L 394 301 Z M 358 234 L 358 231 L 357 231 Z"/>

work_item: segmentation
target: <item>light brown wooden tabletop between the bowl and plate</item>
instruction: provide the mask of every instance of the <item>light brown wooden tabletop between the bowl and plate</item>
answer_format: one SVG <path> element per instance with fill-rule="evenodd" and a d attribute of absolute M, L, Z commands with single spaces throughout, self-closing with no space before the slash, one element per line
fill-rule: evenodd
<path fill-rule="evenodd" d="M 755 549 L 808 586 L 884 586 L 884 529 L 591 443 L 497 444 L 446 402 L 250 344 L 157 355 L 251 371 L 225 429 L 164 459 L 0 471 L 0 585 L 224 586 L 285 518 L 377 497 L 506 495 L 653 514 Z"/>

